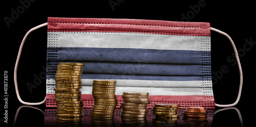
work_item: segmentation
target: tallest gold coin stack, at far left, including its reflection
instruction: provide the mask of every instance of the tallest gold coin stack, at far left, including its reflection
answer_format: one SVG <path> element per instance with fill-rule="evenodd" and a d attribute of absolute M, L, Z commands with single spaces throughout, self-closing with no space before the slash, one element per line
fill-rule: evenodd
<path fill-rule="evenodd" d="M 82 126 L 83 104 L 81 101 L 82 63 L 59 63 L 55 74 L 55 100 L 57 124 Z"/>

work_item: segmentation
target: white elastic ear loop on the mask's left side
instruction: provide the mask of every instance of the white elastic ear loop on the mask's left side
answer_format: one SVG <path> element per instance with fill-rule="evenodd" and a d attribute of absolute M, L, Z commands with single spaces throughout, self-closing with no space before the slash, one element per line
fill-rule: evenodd
<path fill-rule="evenodd" d="M 22 98 L 20 98 L 19 96 L 19 92 L 18 92 L 18 83 L 17 83 L 17 69 L 18 69 L 18 61 L 19 61 L 19 58 L 20 58 L 20 55 L 22 55 L 22 48 L 23 48 L 23 45 L 25 43 L 25 40 L 26 38 L 28 37 L 28 35 L 36 30 L 36 29 L 39 29 L 41 27 L 44 27 L 44 26 L 47 26 L 47 22 L 46 23 L 43 23 L 43 24 L 40 24 L 39 26 L 36 26 L 32 29 L 30 29 L 27 34 L 24 36 L 23 40 L 22 40 L 22 44 L 20 44 L 20 47 L 19 47 L 19 50 L 18 50 L 18 56 L 17 56 L 17 60 L 16 60 L 16 63 L 15 63 L 15 68 L 14 68 L 14 85 L 15 85 L 15 91 L 16 91 L 16 94 L 17 94 L 17 97 L 18 97 L 18 100 L 20 101 L 20 103 L 22 104 L 25 104 L 25 105 L 40 105 L 40 104 L 43 104 L 45 103 L 46 101 L 46 97 L 44 100 L 42 100 L 41 102 L 39 103 L 28 103 L 28 102 L 25 102 L 22 100 Z"/>

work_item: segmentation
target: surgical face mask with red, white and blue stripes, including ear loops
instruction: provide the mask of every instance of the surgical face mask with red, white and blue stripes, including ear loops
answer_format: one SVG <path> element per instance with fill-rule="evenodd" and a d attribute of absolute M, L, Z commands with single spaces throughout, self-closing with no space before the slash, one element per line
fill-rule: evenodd
<path fill-rule="evenodd" d="M 93 80 L 116 80 L 117 108 L 123 91 L 150 93 L 155 103 L 176 103 L 180 108 L 236 105 L 242 89 L 242 69 L 231 38 L 207 22 L 177 22 L 139 19 L 56 18 L 31 29 L 25 36 L 48 25 L 46 99 L 23 104 L 56 107 L 55 72 L 60 62 L 84 63 L 81 75 L 81 100 L 92 108 Z M 231 41 L 240 69 L 237 101 L 230 105 L 215 104 L 211 81 L 210 30 L 224 34 Z M 20 49 L 21 52 L 21 49 Z"/>

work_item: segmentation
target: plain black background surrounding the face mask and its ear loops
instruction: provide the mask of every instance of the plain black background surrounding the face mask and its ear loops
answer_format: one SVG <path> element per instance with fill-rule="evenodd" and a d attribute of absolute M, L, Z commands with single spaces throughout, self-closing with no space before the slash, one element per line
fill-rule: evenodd
<path fill-rule="evenodd" d="M 23 0 L 22 0 L 23 1 Z M 32 1 L 32 0 L 31 0 Z M 35 1 L 35 0 L 34 0 Z M 113 0 L 117 2 L 116 0 Z M 19 103 L 13 81 L 13 71 L 18 49 L 23 37 L 31 28 L 47 22 L 47 17 L 83 17 L 83 18 L 132 18 L 182 21 L 182 14 L 193 11 L 190 6 L 198 5 L 196 1 L 129 1 L 123 0 L 113 10 L 109 0 L 106 1 L 39 1 L 30 2 L 9 23 L 4 18 L 11 18 L 12 9 L 22 6 L 19 1 L 3 1 L 2 5 L 2 68 L 8 71 L 8 123 L 0 121 L 2 125 L 12 126 L 16 110 L 23 104 Z M 244 50 L 246 39 L 255 39 L 255 4 L 253 1 L 213 1 L 205 0 L 205 7 L 195 15 L 190 15 L 189 21 L 210 22 L 211 27 L 219 29 L 233 39 L 238 50 L 244 75 L 244 85 L 241 99 L 237 107 L 243 118 L 244 126 L 253 125 L 255 114 L 255 48 L 256 44 Z M 186 20 L 184 20 L 186 21 Z M 248 45 L 246 48 L 249 48 Z M 24 101 L 37 102 L 45 98 L 46 81 L 43 80 L 37 88 L 29 91 L 26 83 L 33 83 L 34 75 L 45 72 L 47 50 L 47 27 L 32 32 L 24 44 L 22 56 L 18 64 L 17 81 L 20 96 Z M 214 82 L 214 96 L 217 104 L 233 103 L 239 89 L 239 70 L 237 64 L 227 61 L 232 56 L 233 49 L 229 40 L 216 32 L 211 31 L 211 63 L 212 72 L 219 72 L 222 66 L 227 66 L 228 72 Z M 219 75 L 220 76 L 220 75 Z M 212 74 L 212 77 L 216 75 Z M 218 78 L 218 77 L 216 77 Z M 1 94 L 4 94 L 2 85 Z M 3 95 L 1 95 L 3 97 Z M 3 99 L 1 99 L 1 102 Z M 45 104 L 35 106 L 43 111 Z M 216 107 L 216 109 L 220 109 Z M 4 112 L 4 103 L 0 105 L 1 114 Z M 0 119 L 4 115 L 0 115 Z M 39 111 L 23 108 L 17 118 L 16 126 L 41 126 L 44 124 L 44 115 Z M 235 110 L 219 112 L 215 115 L 212 126 L 241 126 Z"/>

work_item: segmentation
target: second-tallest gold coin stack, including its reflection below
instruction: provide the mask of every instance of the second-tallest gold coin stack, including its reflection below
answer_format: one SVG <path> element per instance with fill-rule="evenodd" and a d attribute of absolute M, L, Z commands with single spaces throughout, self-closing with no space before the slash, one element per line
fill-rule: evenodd
<path fill-rule="evenodd" d="M 116 81 L 94 80 L 94 105 L 91 112 L 93 126 L 115 126 L 114 115 L 117 106 Z"/>

